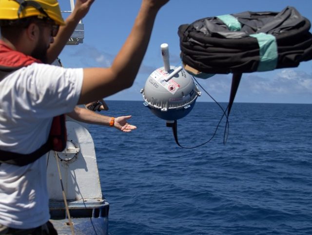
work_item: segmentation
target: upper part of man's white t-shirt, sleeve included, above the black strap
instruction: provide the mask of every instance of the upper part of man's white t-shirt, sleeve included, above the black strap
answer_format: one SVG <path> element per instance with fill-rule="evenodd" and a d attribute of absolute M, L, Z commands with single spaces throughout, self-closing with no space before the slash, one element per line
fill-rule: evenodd
<path fill-rule="evenodd" d="M 8 75 L 0 89 L 0 149 L 30 153 L 45 143 L 52 118 L 77 105 L 82 68 L 31 64 Z"/>

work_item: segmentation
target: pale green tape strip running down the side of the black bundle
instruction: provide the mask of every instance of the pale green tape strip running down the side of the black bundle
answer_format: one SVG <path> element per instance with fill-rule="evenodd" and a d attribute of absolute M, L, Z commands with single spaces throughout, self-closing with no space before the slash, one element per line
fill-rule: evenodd
<path fill-rule="evenodd" d="M 276 39 L 271 34 L 259 33 L 251 34 L 258 40 L 260 48 L 260 62 L 257 71 L 269 71 L 276 68 L 277 65 L 277 44 Z"/>

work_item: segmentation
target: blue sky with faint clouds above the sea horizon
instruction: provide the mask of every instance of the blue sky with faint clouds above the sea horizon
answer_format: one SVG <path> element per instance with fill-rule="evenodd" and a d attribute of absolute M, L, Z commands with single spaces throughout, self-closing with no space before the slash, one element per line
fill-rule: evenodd
<path fill-rule="evenodd" d="M 69 0 L 59 0 L 62 10 L 70 10 Z M 140 0 L 96 0 L 83 19 L 84 43 L 66 46 L 60 59 L 66 67 L 107 67 L 128 36 Z M 312 21 L 311 0 L 170 0 L 158 13 L 152 38 L 134 85 L 107 100 L 142 100 L 140 89 L 148 76 L 163 66 L 160 44 L 168 43 L 171 65 L 179 66 L 178 26 L 198 19 L 243 11 L 276 11 L 295 7 Z M 64 18 L 68 15 L 64 14 Z M 310 30 L 311 31 L 311 30 Z M 227 102 L 232 75 L 197 79 L 218 102 Z M 211 102 L 205 94 L 197 102 Z M 243 74 L 235 102 L 312 104 L 312 61 L 297 68 Z"/>

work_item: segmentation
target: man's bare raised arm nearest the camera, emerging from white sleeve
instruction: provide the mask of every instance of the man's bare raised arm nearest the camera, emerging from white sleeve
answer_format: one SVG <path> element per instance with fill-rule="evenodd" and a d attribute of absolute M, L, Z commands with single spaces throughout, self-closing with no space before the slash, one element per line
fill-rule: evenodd
<path fill-rule="evenodd" d="M 145 55 L 158 10 L 169 0 L 142 0 L 126 42 L 109 68 L 86 68 L 78 104 L 99 100 L 130 87 Z"/>

